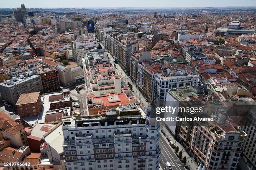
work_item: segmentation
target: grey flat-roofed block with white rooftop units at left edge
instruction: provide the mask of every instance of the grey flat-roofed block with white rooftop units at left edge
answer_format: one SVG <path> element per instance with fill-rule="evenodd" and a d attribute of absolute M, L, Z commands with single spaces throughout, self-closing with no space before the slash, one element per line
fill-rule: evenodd
<path fill-rule="evenodd" d="M 15 104 L 21 93 L 40 92 L 43 90 L 41 77 L 39 75 L 29 75 L 29 73 L 13 77 L 0 83 L 0 92 L 4 100 Z"/>

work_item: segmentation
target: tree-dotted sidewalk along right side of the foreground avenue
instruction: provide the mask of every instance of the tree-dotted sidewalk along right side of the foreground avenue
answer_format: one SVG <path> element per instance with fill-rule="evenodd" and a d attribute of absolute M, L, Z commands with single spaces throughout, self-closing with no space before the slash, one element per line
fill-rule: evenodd
<path fill-rule="evenodd" d="M 168 136 L 170 138 L 170 140 L 172 140 L 175 143 L 175 145 L 179 147 L 179 151 L 182 150 L 182 158 L 184 156 L 186 156 L 189 170 L 197 170 L 197 168 L 198 168 L 197 163 L 195 163 L 194 159 L 189 156 L 189 154 L 186 152 L 185 148 L 174 139 L 172 134 L 169 133 L 169 131 L 165 128 L 164 125 L 163 125 L 163 127 L 161 126 L 161 129 L 163 129 L 166 136 Z M 174 149 L 172 148 L 172 150 L 174 150 Z"/>

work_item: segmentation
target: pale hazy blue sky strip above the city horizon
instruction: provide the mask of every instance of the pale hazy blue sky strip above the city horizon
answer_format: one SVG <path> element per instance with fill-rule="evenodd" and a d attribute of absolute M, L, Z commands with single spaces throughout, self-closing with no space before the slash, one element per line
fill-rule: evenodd
<path fill-rule="evenodd" d="M 1 7 L 226 7 L 256 6 L 256 0 L 0 0 Z"/>

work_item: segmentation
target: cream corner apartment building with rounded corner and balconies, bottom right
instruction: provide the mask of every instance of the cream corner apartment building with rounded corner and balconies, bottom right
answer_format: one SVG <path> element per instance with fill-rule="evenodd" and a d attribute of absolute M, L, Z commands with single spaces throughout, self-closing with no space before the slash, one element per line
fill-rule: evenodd
<path fill-rule="evenodd" d="M 236 170 L 246 135 L 228 123 L 195 126 L 190 148 L 197 163 L 207 169 Z"/>

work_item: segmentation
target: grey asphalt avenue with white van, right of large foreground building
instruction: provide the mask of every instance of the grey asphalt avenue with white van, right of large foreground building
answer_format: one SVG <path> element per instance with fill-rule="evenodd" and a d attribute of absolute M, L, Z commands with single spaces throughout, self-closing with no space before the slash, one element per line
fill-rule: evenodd
<path fill-rule="evenodd" d="M 186 170 L 162 133 L 159 138 L 159 145 L 161 148 L 160 166 L 163 170 L 168 170 L 166 162 L 169 162 L 172 165 L 173 170 Z"/>

